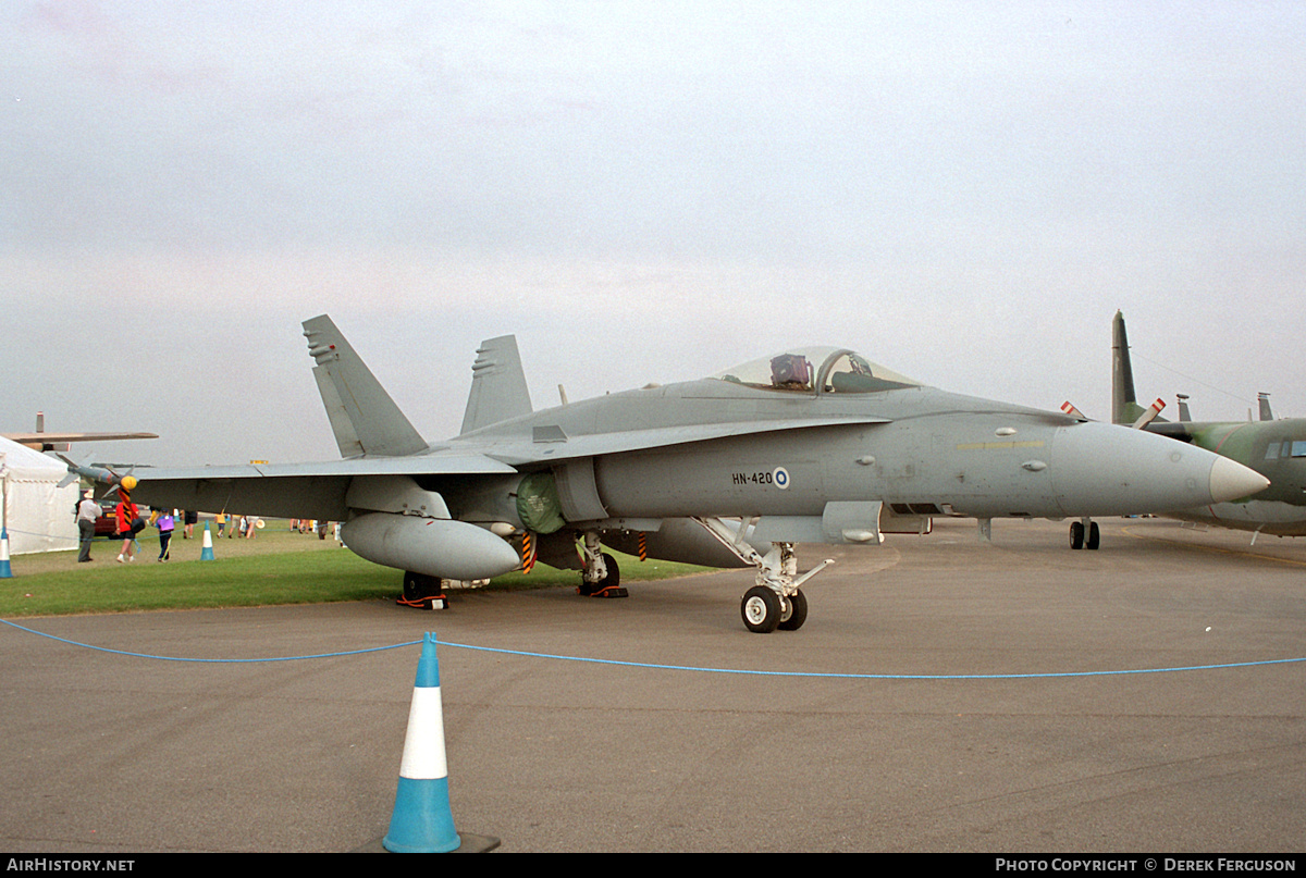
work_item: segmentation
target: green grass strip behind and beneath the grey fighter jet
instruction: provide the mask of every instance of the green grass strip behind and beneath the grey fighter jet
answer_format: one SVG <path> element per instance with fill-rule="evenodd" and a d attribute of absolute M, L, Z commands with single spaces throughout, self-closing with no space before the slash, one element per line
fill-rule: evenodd
<path fill-rule="evenodd" d="M 13 577 L 0 579 L 0 617 L 393 600 L 401 591 L 400 571 L 363 561 L 333 540 L 291 532 L 283 520 L 269 519 L 252 540 L 214 537 L 214 561 L 200 561 L 202 524 L 192 540 L 183 540 L 178 528 L 167 563 L 155 561 L 157 533 L 141 534 L 129 564 L 115 561 L 123 545 L 116 540 L 97 540 L 88 564 L 77 563 L 76 550 L 13 557 Z M 623 580 L 704 570 L 613 554 Z M 529 575 L 496 577 L 487 588 L 575 588 L 579 579 L 573 570 L 539 564 Z"/>

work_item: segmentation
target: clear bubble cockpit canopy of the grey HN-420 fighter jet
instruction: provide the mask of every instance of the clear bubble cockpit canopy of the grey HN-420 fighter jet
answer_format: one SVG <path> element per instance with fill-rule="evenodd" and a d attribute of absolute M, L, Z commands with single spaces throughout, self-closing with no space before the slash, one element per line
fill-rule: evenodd
<path fill-rule="evenodd" d="M 921 387 L 846 348 L 797 348 L 717 372 L 712 378 L 764 391 L 878 393 Z"/>

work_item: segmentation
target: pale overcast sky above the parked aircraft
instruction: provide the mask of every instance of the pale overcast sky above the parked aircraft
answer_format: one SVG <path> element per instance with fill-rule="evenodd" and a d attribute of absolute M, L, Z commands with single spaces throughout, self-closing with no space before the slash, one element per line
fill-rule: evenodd
<path fill-rule="evenodd" d="M 0 5 L 0 430 L 337 455 L 330 314 L 428 440 L 793 344 L 1110 415 L 1306 415 L 1306 4 Z"/>

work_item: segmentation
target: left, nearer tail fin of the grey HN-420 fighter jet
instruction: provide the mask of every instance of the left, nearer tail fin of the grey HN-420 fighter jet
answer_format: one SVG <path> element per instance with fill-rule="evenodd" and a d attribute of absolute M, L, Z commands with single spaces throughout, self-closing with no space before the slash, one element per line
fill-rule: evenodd
<path fill-rule="evenodd" d="M 426 451 L 426 440 L 376 380 L 363 358 L 325 314 L 304 320 L 313 378 L 342 457 L 401 457 Z"/>

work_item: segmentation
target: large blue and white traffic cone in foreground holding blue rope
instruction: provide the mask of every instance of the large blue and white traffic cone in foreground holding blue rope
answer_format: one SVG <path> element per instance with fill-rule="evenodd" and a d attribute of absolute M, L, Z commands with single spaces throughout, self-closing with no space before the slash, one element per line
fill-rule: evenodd
<path fill-rule="evenodd" d="M 448 853 L 461 845 L 449 810 L 440 664 L 435 657 L 434 634 L 422 638 L 394 813 L 381 845 L 394 853 Z"/>

